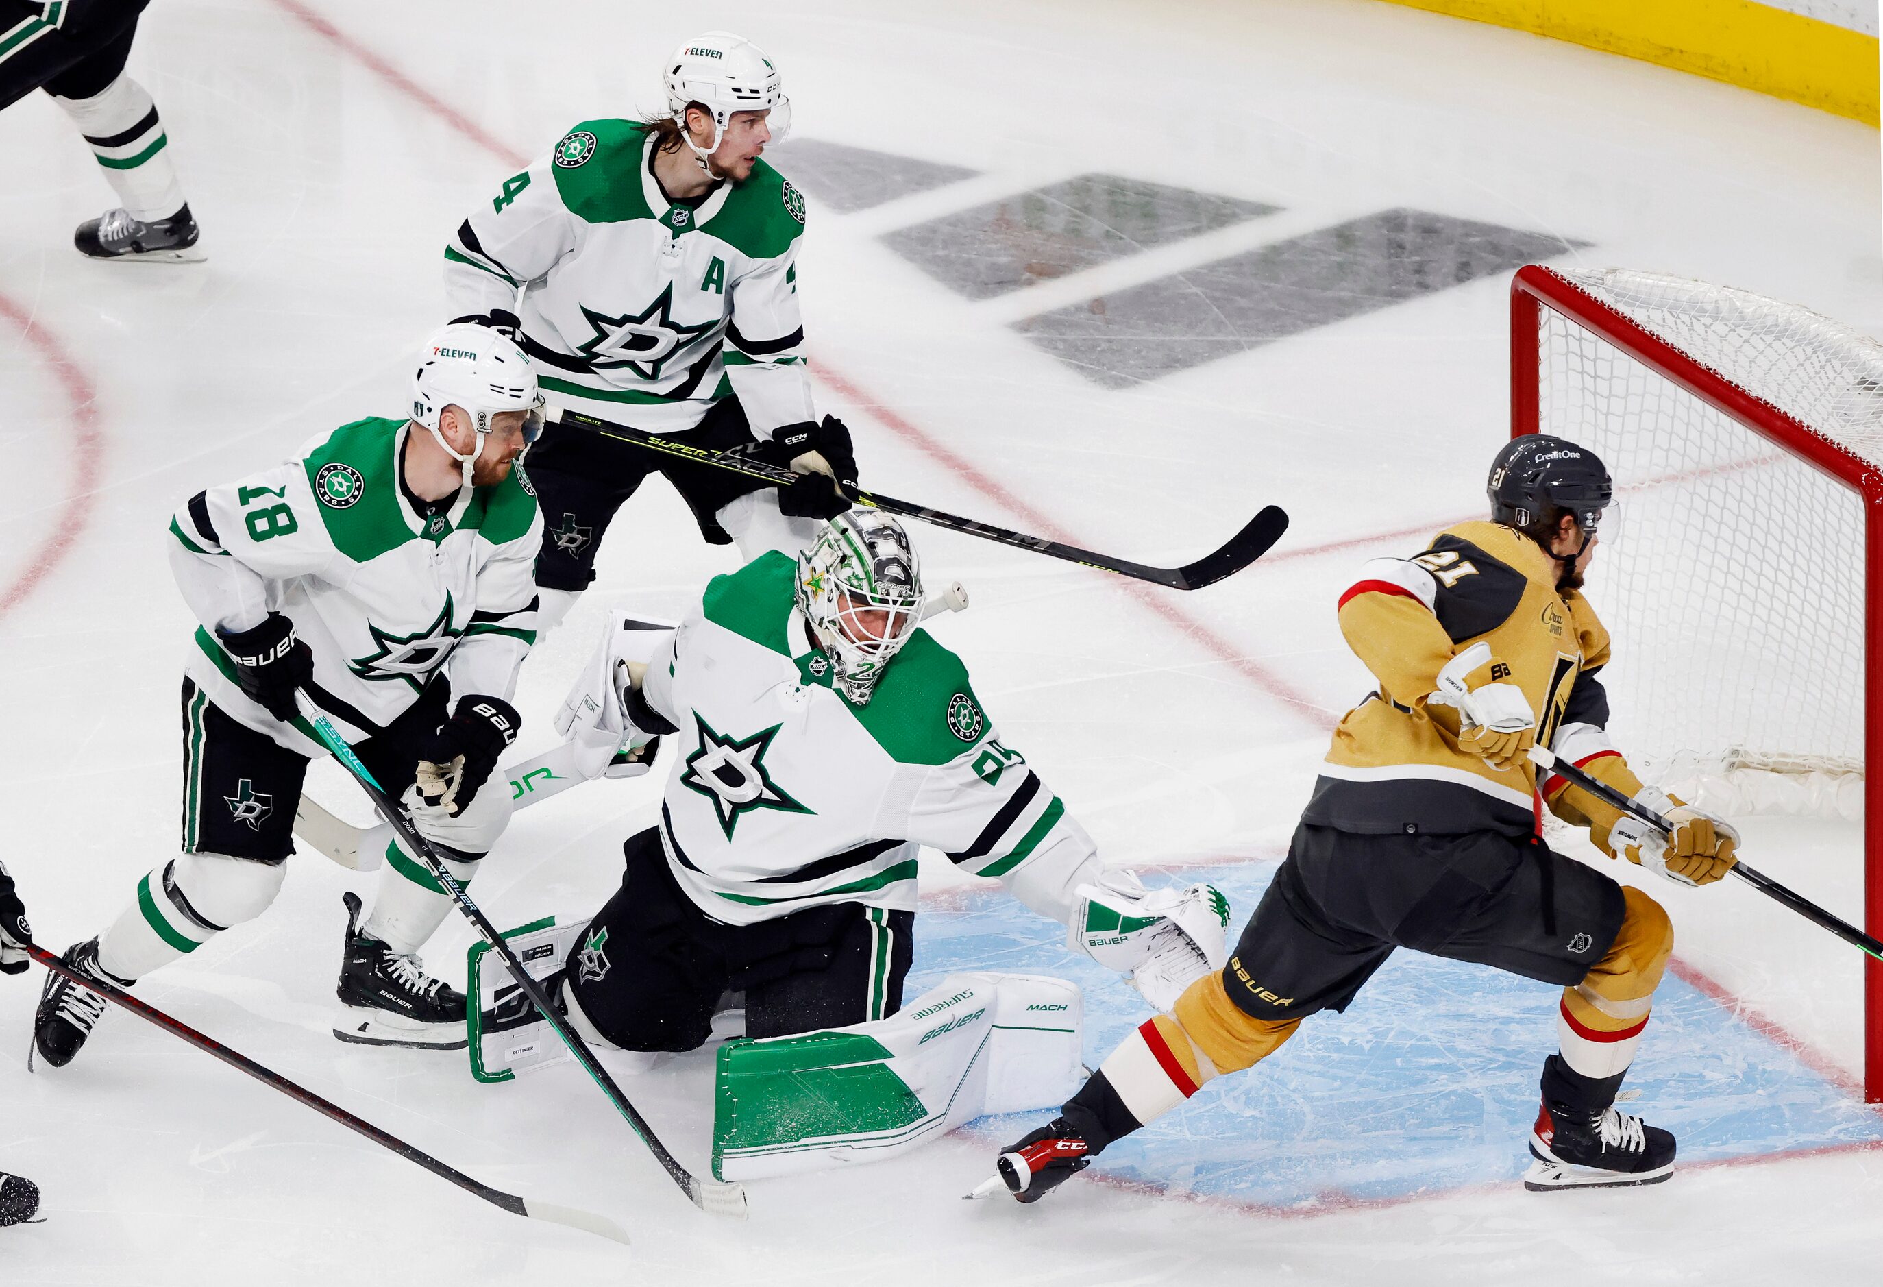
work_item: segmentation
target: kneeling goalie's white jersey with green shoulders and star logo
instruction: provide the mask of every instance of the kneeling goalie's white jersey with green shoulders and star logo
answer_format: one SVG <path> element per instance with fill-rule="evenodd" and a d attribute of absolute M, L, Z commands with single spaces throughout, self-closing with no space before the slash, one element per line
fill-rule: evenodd
<path fill-rule="evenodd" d="M 680 742 L 661 840 L 702 912 L 913 910 L 919 844 L 1009 888 L 1096 878 L 1090 837 L 998 741 L 953 652 L 917 629 L 857 707 L 812 648 L 795 578 L 778 552 L 714 578 L 648 665 L 644 695 Z"/>

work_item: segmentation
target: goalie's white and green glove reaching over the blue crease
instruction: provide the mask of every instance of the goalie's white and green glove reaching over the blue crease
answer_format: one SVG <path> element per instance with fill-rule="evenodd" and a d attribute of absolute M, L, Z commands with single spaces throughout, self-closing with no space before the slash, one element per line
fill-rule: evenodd
<path fill-rule="evenodd" d="M 1230 959 L 1230 901 L 1215 886 L 1145 889 L 1135 872 L 1111 871 L 1079 886 L 1066 946 L 1124 974 L 1166 1012 L 1196 980 Z"/>

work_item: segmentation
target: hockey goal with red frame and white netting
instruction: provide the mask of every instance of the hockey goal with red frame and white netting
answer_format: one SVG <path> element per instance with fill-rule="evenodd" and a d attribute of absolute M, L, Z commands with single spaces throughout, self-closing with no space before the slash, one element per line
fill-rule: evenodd
<path fill-rule="evenodd" d="M 1518 269 L 1510 432 L 1593 448 L 1617 744 L 1719 812 L 1862 818 L 1883 937 L 1883 345 L 1796 305 L 1625 269 Z M 1864 961 L 1883 1100 L 1883 963 Z"/>

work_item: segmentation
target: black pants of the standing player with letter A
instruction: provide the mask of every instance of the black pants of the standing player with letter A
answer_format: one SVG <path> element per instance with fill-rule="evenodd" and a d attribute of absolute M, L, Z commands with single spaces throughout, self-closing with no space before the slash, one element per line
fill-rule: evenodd
<path fill-rule="evenodd" d="M 631 407 L 623 409 L 625 424 Z M 706 416 L 685 433 L 667 433 L 676 443 L 710 447 L 716 452 L 759 447 L 738 398 L 714 403 Z M 716 514 L 763 482 L 727 469 L 695 465 L 661 456 L 587 430 L 550 424 L 529 448 L 529 481 L 542 509 L 542 552 L 537 554 L 537 584 L 544 590 L 587 590 L 595 580 L 595 554 L 603 533 L 629 496 L 650 473 L 661 473 L 693 511 L 693 522 L 710 545 L 731 545 L 732 537 Z"/>

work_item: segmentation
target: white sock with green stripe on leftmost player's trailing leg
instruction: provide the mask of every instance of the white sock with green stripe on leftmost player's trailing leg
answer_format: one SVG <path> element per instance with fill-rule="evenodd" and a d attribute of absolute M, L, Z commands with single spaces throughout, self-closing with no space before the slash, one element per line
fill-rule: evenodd
<path fill-rule="evenodd" d="M 137 882 L 137 897 L 98 937 L 98 967 L 137 980 L 267 910 L 286 863 L 179 854 Z"/>

